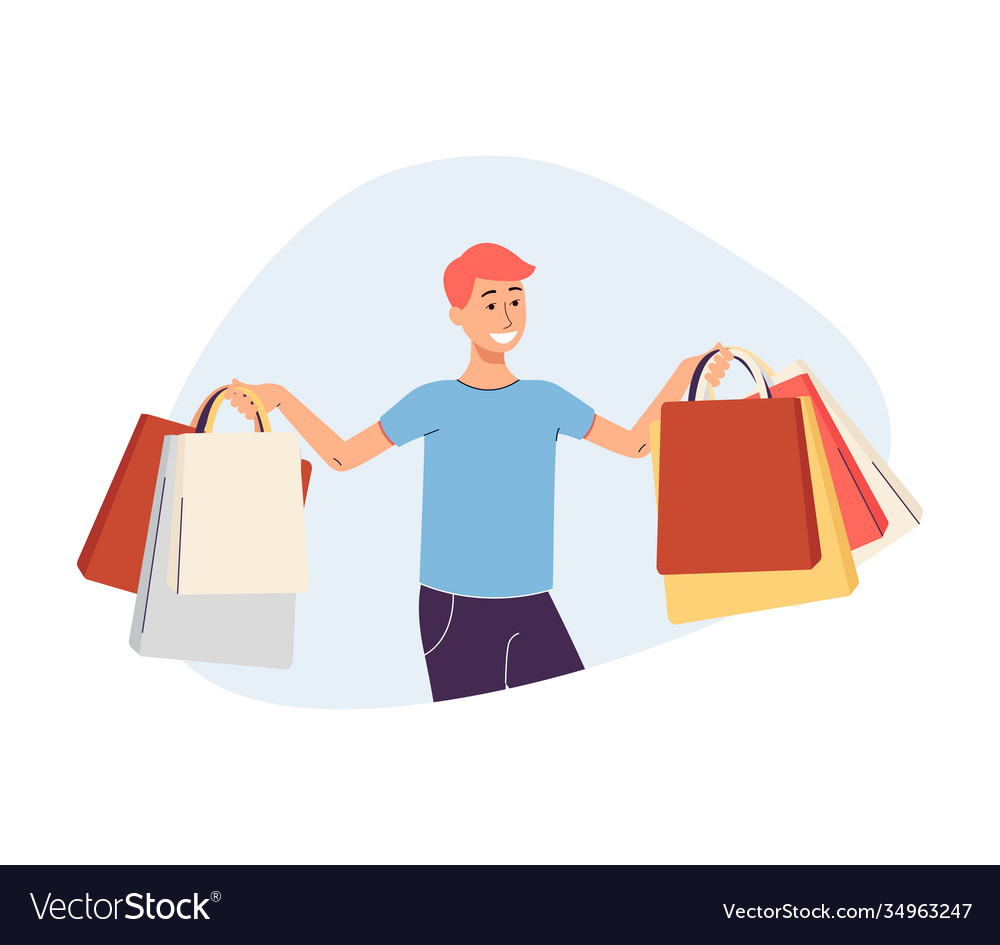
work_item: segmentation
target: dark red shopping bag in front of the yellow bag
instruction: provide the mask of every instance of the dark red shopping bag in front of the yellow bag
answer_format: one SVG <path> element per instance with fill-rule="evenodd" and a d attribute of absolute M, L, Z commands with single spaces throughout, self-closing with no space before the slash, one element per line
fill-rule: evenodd
<path fill-rule="evenodd" d="M 801 403 L 771 399 L 759 370 L 740 361 L 764 399 L 661 408 L 660 574 L 806 570 L 819 561 Z"/>

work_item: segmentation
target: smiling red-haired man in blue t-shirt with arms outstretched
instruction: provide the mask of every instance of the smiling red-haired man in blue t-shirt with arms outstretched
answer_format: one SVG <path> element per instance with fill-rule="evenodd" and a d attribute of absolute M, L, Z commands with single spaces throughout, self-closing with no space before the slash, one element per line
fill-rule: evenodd
<path fill-rule="evenodd" d="M 506 356 L 524 334 L 523 280 L 534 270 L 495 243 L 479 243 L 454 260 L 444 288 L 450 318 L 471 343 L 465 373 L 411 391 L 349 440 L 285 388 L 247 385 L 337 471 L 423 438 L 419 616 L 435 701 L 583 669 L 549 596 L 556 444 L 572 436 L 645 457 L 650 422 L 664 401 L 681 399 L 702 357 L 681 362 L 631 429 L 555 384 L 519 380 Z M 732 360 L 716 348 L 708 372 L 713 386 Z M 246 395 L 227 396 L 241 413 L 256 409 Z"/>

